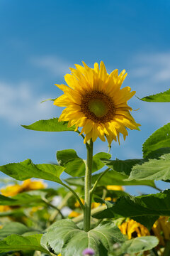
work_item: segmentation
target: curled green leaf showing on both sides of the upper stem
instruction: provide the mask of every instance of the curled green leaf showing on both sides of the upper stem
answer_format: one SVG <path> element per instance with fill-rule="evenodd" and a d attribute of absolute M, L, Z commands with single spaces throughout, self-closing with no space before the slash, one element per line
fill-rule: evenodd
<path fill-rule="evenodd" d="M 104 152 L 98 153 L 93 157 L 92 172 L 98 171 L 105 164 L 101 159 L 110 159 L 111 154 Z M 85 175 L 85 160 L 81 159 L 74 149 L 65 149 L 57 151 L 57 161 L 61 166 L 65 167 L 65 172 L 73 177 L 81 177 Z"/>

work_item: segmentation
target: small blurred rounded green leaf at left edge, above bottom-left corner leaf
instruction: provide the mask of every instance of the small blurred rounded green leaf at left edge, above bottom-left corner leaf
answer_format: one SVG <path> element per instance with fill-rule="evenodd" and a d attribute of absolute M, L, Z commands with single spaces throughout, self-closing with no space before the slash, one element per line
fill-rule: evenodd
<path fill-rule="evenodd" d="M 6 238 L 8 235 L 23 235 L 23 233 L 26 233 L 30 230 L 30 228 L 26 227 L 26 225 L 23 225 L 22 223 L 7 223 L 3 228 L 0 229 L 0 240 Z"/>

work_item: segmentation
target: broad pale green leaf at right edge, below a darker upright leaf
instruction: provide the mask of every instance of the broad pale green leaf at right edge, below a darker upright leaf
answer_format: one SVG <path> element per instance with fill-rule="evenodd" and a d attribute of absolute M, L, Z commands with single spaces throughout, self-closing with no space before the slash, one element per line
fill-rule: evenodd
<path fill-rule="evenodd" d="M 140 181 L 170 179 L 170 154 L 164 154 L 159 159 L 149 159 L 144 164 L 133 166 L 128 181 L 133 179 Z"/>

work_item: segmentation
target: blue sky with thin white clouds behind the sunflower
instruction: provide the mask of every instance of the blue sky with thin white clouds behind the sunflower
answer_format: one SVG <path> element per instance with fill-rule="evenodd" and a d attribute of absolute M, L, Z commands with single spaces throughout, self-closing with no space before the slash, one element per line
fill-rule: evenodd
<path fill-rule="evenodd" d="M 77 134 L 33 132 L 20 124 L 58 117 L 52 102 L 40 104 L 61 91 L 65 73 L 84 60 L 91 68 L 104 61 L 108 72 L 128 71 L 124 86 L 138 97 L 169 89 L 170 4 L 164 1 L 0 1 L 0 165 L 32 159 L 35 164 L 55 161 L 57 150 L 74 148 L 86 157 Z M 169 122 L 168 103 L 130 103 L 141 132 L 130 131 L 113 158 L 142 157 L 142 143 Z M 95 153 L 107 151 L 99 139 Z M 159 183 L 168 188 L 169 183 Z M 128 188 L 129 189 L 129 188 Z M 130 188 L 141 191 L 141 188 Z M 145 188 L 146 189 L 146 188 Z M 148 190 L 149 191 L 149 190 Z"/>

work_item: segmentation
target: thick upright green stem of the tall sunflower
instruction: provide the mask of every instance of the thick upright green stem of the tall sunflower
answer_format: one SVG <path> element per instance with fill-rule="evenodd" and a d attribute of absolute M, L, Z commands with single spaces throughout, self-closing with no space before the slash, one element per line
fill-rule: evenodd
<path fill-rule="evenodd" d="M 93 161 L 93 142 L 92 139 L 86 143 L 87 149 L 87 159 L 86 159 L 86 174 L 85 174 L 85 184 L 84 184 L 84 231 L 88 232 L 90 230 L 91 224 L 91 169 Z"/>

